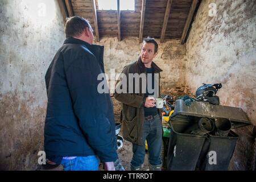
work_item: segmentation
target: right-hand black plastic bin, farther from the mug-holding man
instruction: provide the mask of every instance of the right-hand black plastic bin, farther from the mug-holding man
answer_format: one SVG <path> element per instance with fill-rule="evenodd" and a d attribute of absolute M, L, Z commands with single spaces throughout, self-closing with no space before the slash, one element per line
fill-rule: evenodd
<path fill-rule="evenodd" d="M 203 171 L 226 171 L 233 156 L 238 135 L 230 131 L 228 137 L 208 135 L 197 167 Z"/>

